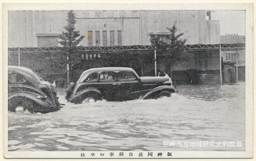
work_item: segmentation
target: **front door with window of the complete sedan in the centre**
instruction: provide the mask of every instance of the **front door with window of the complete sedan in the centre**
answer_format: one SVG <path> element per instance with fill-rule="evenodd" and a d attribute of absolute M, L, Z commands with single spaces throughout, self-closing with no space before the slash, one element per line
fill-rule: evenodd
<path fill-rule="evenodd" d="M 139 98 L 142 85 L 132 71 L 119 71 L 117 93 L 122 100 Z"/>

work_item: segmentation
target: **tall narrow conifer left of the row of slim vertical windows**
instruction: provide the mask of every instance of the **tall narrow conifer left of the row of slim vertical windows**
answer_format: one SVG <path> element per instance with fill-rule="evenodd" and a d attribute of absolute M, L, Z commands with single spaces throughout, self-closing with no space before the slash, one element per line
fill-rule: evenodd
<path fill-rule="evenodd" d="M 84 38 L 84 36 L 80 36 L 79 31 L 75 30 L 75 24 L 76 24 L 75 18 L 76 17 L 73 10 L 70 10 L 68 12 L 68 18 L 66 19 L 68 23 L 66 26 L 64 26 L 64 29 L 66 30 L 66 32 L 62 32 L 62 34 L 58 36 L 58 38 L 60 39 L 58 43 L 64 46 L 66 56 L 68 56 L 67 63 L 70 65 L 71 76 L 72 76 L 72 71 L 76 70 L 72 67 L 75 64 L 80 63 L 80 60 L 81 60 L 80 53 L 77 50 L 77 45 Z"/>

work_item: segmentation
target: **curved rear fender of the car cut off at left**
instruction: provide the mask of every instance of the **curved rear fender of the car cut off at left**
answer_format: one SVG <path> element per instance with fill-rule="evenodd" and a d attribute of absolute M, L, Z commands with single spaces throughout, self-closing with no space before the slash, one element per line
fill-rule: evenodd
<path fill-rule="evenodd" d="M 32 93 L 29 91 L 18 91 L 13 92 L 8 95 L 8 100 L 14 98 L 14 97 L 25 97 L 27 99 L 31 99 L 32 101 L 42 105 L 43 107 L 50 107 L 53 105 L 52 101 L 49 98 L 46 98 L 44 101 L 40 98 L 37 98 L 37 96 L 44 97 L 44 95 L 40 95 L 38 93 Z"/>

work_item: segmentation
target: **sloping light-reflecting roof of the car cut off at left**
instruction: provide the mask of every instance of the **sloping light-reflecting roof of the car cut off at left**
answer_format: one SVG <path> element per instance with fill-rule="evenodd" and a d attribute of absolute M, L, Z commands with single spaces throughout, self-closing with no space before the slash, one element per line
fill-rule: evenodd
<path fill-rule="evenodd" d="M 26 68 L 26 67 L 8 66 L 8 71 L 18 72 L 18 73 L 24 74 L 25 76 L 27 76 L 30 79 L 36 79 L 36 80 L 40 81 L 40 78 L 38 77 L 38 75 L 35 72 L 33 72 L 31 69 Z"/>

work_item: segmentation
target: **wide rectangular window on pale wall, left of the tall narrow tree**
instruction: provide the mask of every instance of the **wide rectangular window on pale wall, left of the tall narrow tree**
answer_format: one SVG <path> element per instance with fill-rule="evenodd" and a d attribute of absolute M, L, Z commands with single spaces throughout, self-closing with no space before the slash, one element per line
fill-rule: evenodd
<path fill-rule="evenodd" d="M 38 36 L 38 47 L 58 46 L 58 36 Z"/>

